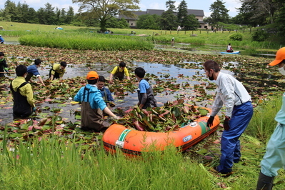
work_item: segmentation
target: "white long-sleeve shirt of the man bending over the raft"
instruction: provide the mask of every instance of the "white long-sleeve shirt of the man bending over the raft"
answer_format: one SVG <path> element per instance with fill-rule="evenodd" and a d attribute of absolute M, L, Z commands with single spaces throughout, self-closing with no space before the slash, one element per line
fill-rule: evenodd
<path fill-rule="evenodd" d="M 234 106 L 239 106 L 251 101 L 251 96 L 240 81 L 234 79 L 234 76 L 219 72 L 216 79 L 217 94 L 212 107 L 211 116 L 216 116 L 223 104 L 226 106 L 226 116 L 231 117 Z"/>

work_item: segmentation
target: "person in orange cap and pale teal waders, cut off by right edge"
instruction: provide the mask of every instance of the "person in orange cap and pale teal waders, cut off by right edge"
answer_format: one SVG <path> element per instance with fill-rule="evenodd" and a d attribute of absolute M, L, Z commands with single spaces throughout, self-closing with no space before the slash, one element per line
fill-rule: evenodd
<path fill-rule="evenodd" d="M 285 47 L 277 51 L 275 60 L 269 65 L 277 65 L 279 72 L 285 75 Z M 281 167 L 285 168 L 285 93 L 282 96 L 282 106 L 275 116 L 275 121 L 277 121 L 277 126 L 269 139 L 264 158 L 261 160 L 261 172 L 256 189 L 272 189 L 277 171 Z"/>

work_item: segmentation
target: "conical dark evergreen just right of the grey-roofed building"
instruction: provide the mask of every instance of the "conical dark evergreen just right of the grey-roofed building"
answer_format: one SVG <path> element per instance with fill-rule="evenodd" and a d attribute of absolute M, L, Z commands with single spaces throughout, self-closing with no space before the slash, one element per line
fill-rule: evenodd
<path fill-rule="evenodd" d="M 224 6 L 224 2 L 221 0 L 214 1 L 210 6 L 211 16 L 206 20 L 210 25 L 215 25 L 218 22 L 228 23 L 229 10 Z"/>

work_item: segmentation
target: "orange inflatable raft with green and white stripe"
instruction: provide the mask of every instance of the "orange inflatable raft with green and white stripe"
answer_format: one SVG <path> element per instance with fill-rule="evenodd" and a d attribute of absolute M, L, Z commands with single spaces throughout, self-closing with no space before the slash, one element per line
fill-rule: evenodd
<path fill-rule="evenodd" d="M 207 110 L 211 113 L 211 109 Z M 103 135 L 104 149 L 111 153 L 120 149 L 127 156 L 136 156 L 141 155 L 142 151 L 148 151 L 149 146 L 164 151 L 166 146 L 173 144 L 179 151 L 184 151 L 218 129 L 219 116 L 215 116 L 211 127 L 206 126 L 208 119 L 209 114 L 177 131 L 168 132 L 137 131 L 121 124 L 112 124 Z"/>

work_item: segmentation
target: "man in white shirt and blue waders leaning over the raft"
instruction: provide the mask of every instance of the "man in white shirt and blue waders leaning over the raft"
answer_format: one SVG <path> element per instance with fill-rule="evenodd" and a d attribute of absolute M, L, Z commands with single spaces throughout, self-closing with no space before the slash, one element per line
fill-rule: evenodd
<path fill-rule="evenodd" d="M 229 74 L 221 73 L 216 61 L 206 61 L 204 70 L 209 80 L 216 80 L 217 94 L 207 126 L 213 125 L 214 116 L 226 106 L 224 131 L 221 135 L 221 158 L 215 168 L 221 174 L 231 174 L 234 163 L 241 157 L 239 137 L 244 132 L 254 112 L 251 96 L 238 80 Z"/>

